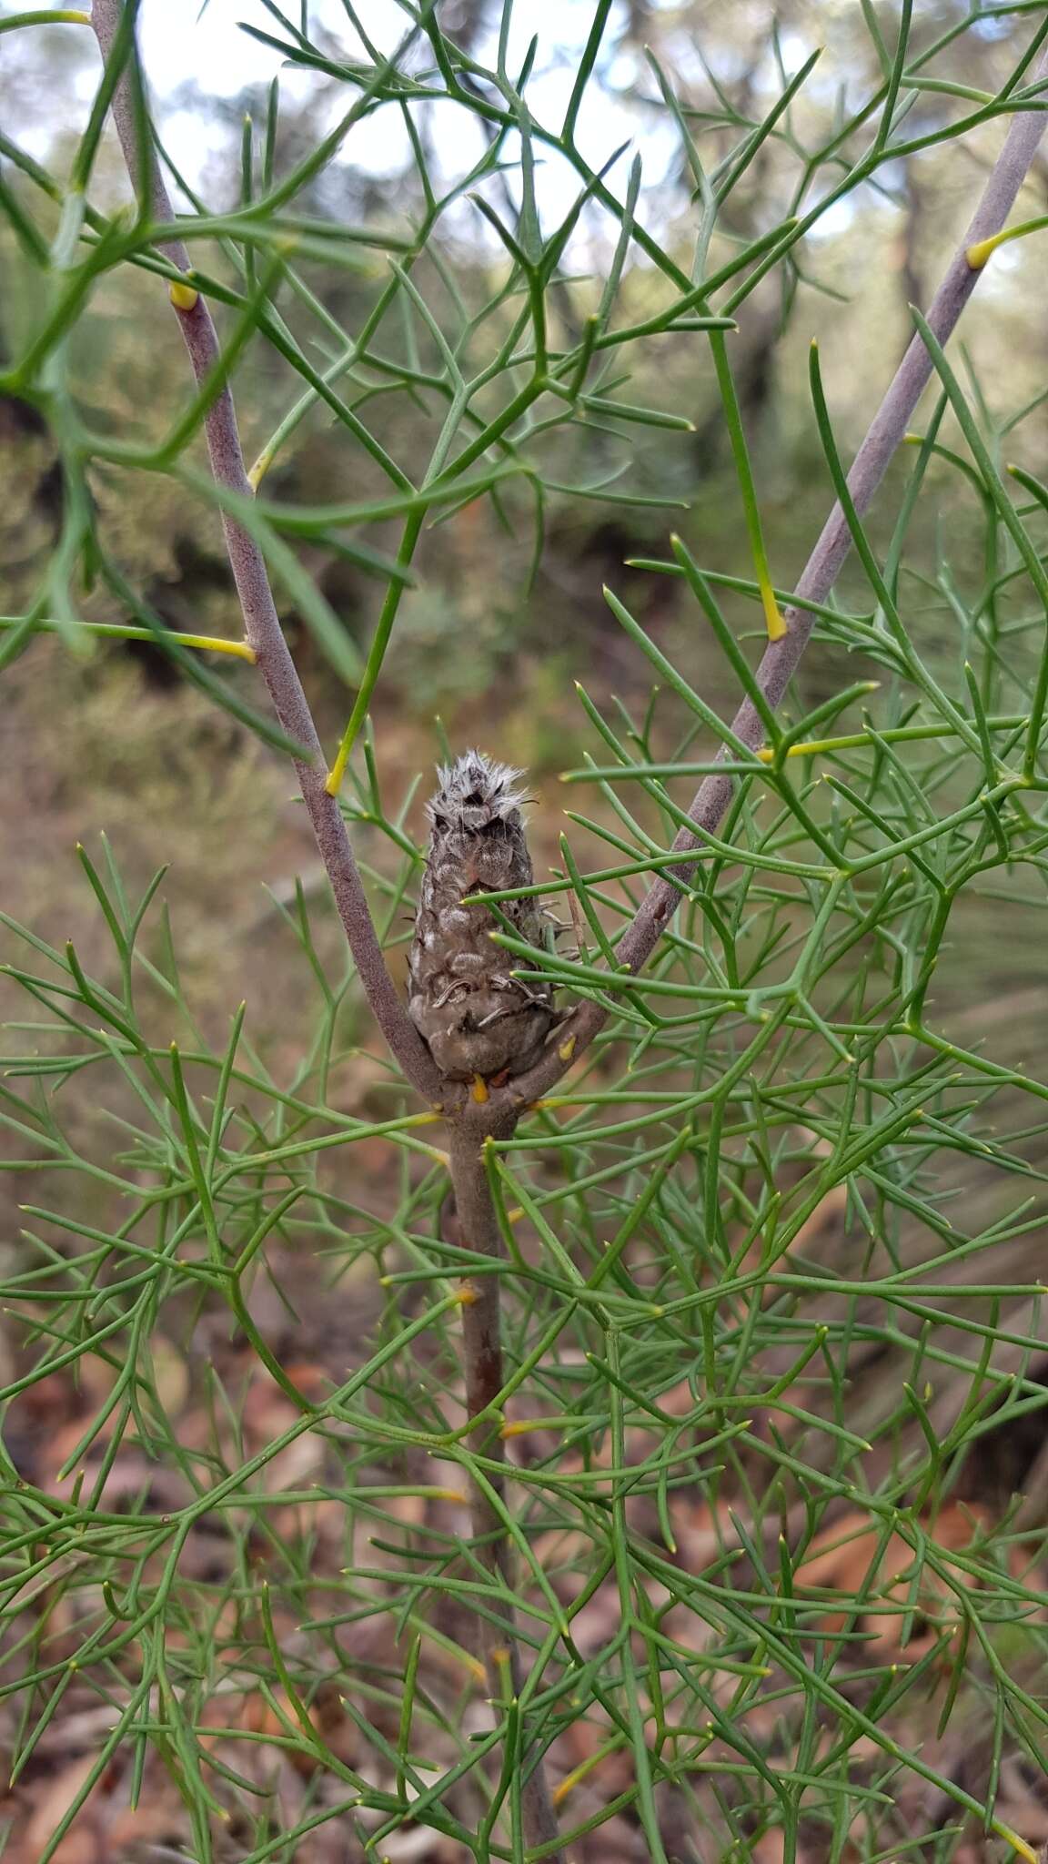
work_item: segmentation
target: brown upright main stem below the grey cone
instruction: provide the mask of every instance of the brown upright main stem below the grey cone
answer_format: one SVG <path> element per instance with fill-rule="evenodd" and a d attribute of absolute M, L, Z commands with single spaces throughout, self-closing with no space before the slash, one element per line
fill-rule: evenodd
<path fill-rule="evenodd" d="M 515 1122 L 502 1122 L 490 1137 L 507 1139 L 513 1126 Z M 451 1128 L 451 1187 L 455 1191 L 455 1212 L 462 1245 L 485 1256 L 502 1256 L 502 1234 L 485 1167 L 485 1137 L 476 1130 L 470 1131 L 459 1124 Z M 466 1409 L 472 1419 L 477 1419 L 472 1430 L 472 1446 L 474 1450 L 483 1450 L 489 1461 L 503 1463 L 505 1445 L 500 1433 L 498 1413 L 492 1409 L 505 1383 L 498 1275 L 477 1275 L 470 1286 L 470 1299 L 462 1303 L 462 1361 L 466 1372 Z M 505 1482 L 502 1474 L 489 1473 L 487 1482 L 500 1502 L 503 1502 Z M 477 1558 L 492 1579 L 502 1581 L 505 1590 L 513 1592 L 515 1560 L 505 1521 L 492 1504 L 490 1493 L 481 1489 L 477 1482 L 472 1484 L 472 1515 Z M 513 1607 L 503 1607 L 500 1616 L 503 1625 L 494 1625 L 490 1618 L 477 1612 L 483 1663 L 494 1702 L 503 1698 L 505 1672 L 509 1672 L 513 1696 L 520 1694 L 524 1681 Z M 558 1838 L 558 1819 L 541 1756 L 535 1756 L 531 1761 L 528 1752 L 524 1752 L 522 1760 L 530 1771 L 526 1771 L 520 1791 L 520 1812 L 524 1842 L 528 1849 L 533 1849 L 535 1845 L 548 1845 Z M 559 1864 L 561 1853 L 548 1851 L 546 1857 L 550 1864 Z"/>

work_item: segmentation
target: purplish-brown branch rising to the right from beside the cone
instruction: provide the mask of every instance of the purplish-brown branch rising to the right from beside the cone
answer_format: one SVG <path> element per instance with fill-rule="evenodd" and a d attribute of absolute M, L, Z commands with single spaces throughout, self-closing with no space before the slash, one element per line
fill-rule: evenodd
<path fill-rule="evenodd" d="M 1039 76 L 1042 76 L 1044 71 L 1048 71 L 1048 54 L 1041 60 Z M 960 240 L 945 278 L 932 298 L 927 321 L 940 343 L 945 343 L 953 334 L 957 321 L 979 280 L 979 268 L 968 263 L 968 248 L 990 239 L 1003 227 L 1029 164 L 1033 162 L 1041 138 L 1044 136 L 1044 114 L 1039 110 L 1029 114 L 1016 112 L 1011 121 L 1003 149 L 994 164 L 990 179 L 986 181 L 972 226 Z M 931 373 L 932 360 L 929 350 L 925 349 L 923 339 L 914 336 L 848 473 L 848 488 L 860 516 L 869 509 L 886 473 L 888 462 L 910 427 L 910 419 L 927 388 Z M 822 528 L 822 535 L 819 537 L 819 542 L 815 544 L 815 550 L 811 552 L 796 585 L 796 595 L 807 602 L 826 602 L 850 548 L 852 533 L 847 518 L 841 507 L 834 505 L 834 511 Z M 770 706 L 781 705 L 783 693 L 811 637 L 815 617 L 804 610 L 789 608 L 785 611 L 785 623 L 787 632 L 781 639 L 772 641 L 766 647 L 757 669 L 757 684 L 761 686 L 761 692 Z M 738 706 L 738 712 L 731 721 L 731 731 L 735 738 L 742 738 L 750 749 L 761 749 L 765 742 L 765 727 L 761 725 L 761 718 L 750 699 L 744 699 Z M 727 751 L 722 749 L 720 761 L 725 761 L 725 757 Z M 705 777 L 688 809 L 697 833 L 681 829 L 673 848 L 681 854 L 690 854 L 696 848 L 701 848 L 703 833 L 714 833 L 718 822 L 727 811 L 733 790 L 733 777 Z M 675 869 L 653 882 L 632 925 L 615 949 L 615 956 L 623 966 L 628 966 L 632 971 L 643 969 L 681 898 L 681 887 L 686 885 L 686 874 L 688 863 L 684 863 L 683 869 Z M 511 1100 L 511 1103 L 522 1107 L 528 1102 L 537 1100 L 541 1094 L 548 1094 L 561 1076 L 567 1074 L 567 1068 L 572 1066 L 584 1049 L 589 1048 L 593 1036 L 602 1029 L 606 1016 L 608 1012 L 600 1008 L 600 1005 L 582 1003 L 561 1025 L 558 1040 L 550 1046 L 548 1053 L 543 1055 L 543 1059 L 537 1061 L 528 1074 L 517 1076 L 509 1089 L 502 1089 L 498 1096 L 492 1094 L 490 1117 L 500 1115 L 500 1100 Z"/>

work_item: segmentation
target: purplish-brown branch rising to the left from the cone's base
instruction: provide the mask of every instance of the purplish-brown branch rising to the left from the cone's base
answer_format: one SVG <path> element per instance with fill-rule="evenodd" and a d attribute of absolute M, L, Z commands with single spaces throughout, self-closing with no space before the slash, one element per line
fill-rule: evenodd
<path fill-rule="evenodd" d="M 99 41 L 103 58 L 106 60 L 112 52 L 121 15 L 121 0 L 93 0 L 91 28 Z M 123 158 L 127 162 L 127 171 L 134 179 L 134 175 L 140 173 L 138 119 L 127 73 L 121 75 L 116 88 L 112 114 Z M 149 153 L 149 207 L 155 220 L 160 224 L 170 226 L 175 218 L 157 157 L 153 153 Z M 190 270 L 188 254 L 181 240 L 166 240 L 160 246 L 160 252 L 172 261 L 172 265 L 177 265 L 179 272 Z M 205 382 L 211 377 L 220 354 L 218 336 L 207 302 L 196 293 L 196 289 L 179 285 L 172 291 L 172 302 L 175 304 L 196 380 Z M 237 412 L 233 408 L 233 395 L 228 384 L 214 397 L 203 425 L 207 434 L 207 451 L 211 457 L 211 472 L 216 483 L 228 487 L 231 492 L 237 492 L 241 498 L 252 498 L 252 487 L 248 483 L 244 455 L 241 449 L 241 434 L 237 431 Z M 244 531 L 244 528 L 226 511 L 222 513 L 222 529 L 226 533 L 229 569 L 233 570 L 233 582 L 241 598 L 244 636 L 248 645 L 254 649 L 274 712 L 283 725 L 283 731 L 311 753 L 308 762 L 295 762 L 298 787 L 313 826 L 317 848 L 321 850 L 321 857 L 332 884 L 339 919 L 345 926 L 349 949 L 367 995 L 367 1003 L 371 1005 L 375 1021 L 379 1023 L 393 1057 L 401 1064 L 412 1087 L 416 1087 L 425 1100 L 438 1102 L 442 1096 L 440 1074 L 425 1042 L 410 1021 L 390 971 L 386 969 L 386 960 L 375 934 L 367 897 L 364 893 L 364 884 L 349 844 L 338 800 L 328 796 L 324 788 L 326 770 L 321 740 L 317 736 L 313 714 L 310 712 L 310 703 L 302 692 L 302 682 L 295 671 L 287 641 L 283 639 L 265 557 L 248 531 Z"/>

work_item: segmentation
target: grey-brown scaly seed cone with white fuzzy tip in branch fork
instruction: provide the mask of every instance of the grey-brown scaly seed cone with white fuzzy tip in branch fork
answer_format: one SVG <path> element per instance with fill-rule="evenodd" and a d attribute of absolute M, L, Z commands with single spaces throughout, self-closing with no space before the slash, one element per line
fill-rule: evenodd
<path fill-rule="evenodd" d="M 492 911 L 462 906 L 470 893 L 533 882 L 518 775 L 466 751 L 438 770 L 440 788 L 427 803 L 431 837 L 408 956 L 408 1016 L 436 1066 L 455 1081 L 524 1074 L 556 1021 L 541 971 L 535 982 L 515 979 L 513 971 L 531 967 L 492 943 Z M 503 900 L 500 911 L 520 939 L 541 943 L 537 898 Z"/>

